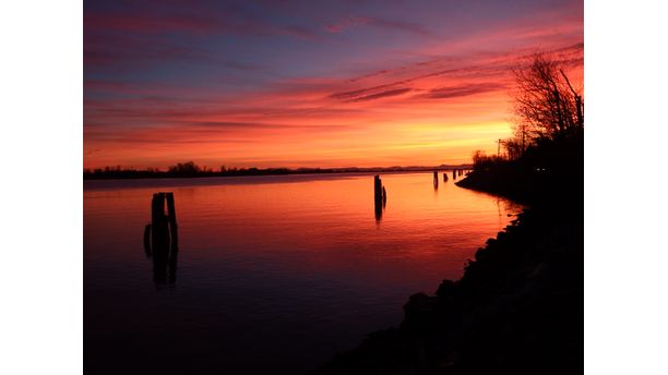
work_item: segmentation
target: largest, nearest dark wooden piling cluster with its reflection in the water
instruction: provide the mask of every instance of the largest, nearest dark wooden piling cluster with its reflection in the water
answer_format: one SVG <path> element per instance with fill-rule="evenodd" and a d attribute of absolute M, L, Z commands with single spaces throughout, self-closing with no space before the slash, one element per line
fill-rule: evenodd
<path fill-rule="evenodd" d="M 167 214 L 165 214 L 165 201 Z M 151 238 L 148 238 L 151 237 Z M 157 285 L 176 282 L 178 227 L 172 193 L 155 193 L 151 202 L 151 223 L 144 229 L 144 250 L 153 257 L 153 279 Z"/>

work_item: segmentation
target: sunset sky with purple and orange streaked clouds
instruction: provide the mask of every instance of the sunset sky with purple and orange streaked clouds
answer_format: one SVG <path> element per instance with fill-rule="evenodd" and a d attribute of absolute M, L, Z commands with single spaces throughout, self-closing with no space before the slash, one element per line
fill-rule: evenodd
<path fill-rule="evenodd" d="M 582 86 L 582 0 L 85 1 L 84 168 L 469 162 L 536 50 Z"/>

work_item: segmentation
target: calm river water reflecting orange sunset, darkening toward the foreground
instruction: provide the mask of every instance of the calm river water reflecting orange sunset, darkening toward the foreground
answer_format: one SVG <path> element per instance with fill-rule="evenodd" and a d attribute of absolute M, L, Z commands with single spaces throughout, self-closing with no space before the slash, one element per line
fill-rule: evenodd
<path fill-rule="evenodd" d="M 396 326 L 416 292 L 462 276 L 520 206 L 431 173 L 84 183 L 84 367 L 300 373 Z M 176 281 L 143 250 L 154 192 L 175 194 Z"/>

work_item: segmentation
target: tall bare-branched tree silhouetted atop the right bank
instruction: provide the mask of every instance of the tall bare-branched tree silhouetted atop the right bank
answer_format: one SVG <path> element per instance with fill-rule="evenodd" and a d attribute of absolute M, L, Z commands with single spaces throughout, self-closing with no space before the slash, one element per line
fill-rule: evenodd
<path fill-rule="evenodd" d="M 535 53 L 529 64 L 514 69 L 513 74 L 517 141 L 556 140 L 583 129 L 582 93 L 573 88 L 561 62 Z"/>

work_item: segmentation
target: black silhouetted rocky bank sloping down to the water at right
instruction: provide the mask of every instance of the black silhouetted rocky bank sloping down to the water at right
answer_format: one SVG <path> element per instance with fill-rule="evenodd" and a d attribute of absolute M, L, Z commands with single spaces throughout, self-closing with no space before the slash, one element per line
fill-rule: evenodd
<path fill-rule="evenodd" d="M 461 185 L 526 196 L 490 178 L 474 172 Z M 411 295 L 399 327 L 370 334 L 312 373 L 582 373 L 581 186 L 561 198 L 532 199 L 532 208 L 478 250 L 462 279 Z"/>

